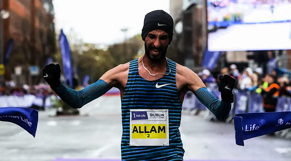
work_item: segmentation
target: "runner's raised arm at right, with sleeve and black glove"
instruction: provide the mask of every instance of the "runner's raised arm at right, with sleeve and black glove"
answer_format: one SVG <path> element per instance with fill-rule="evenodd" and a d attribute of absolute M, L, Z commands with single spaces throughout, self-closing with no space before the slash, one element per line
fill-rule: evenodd
<path fill-rule="evenodd" d="M 231 103 L 233 102 L 232 90 L 235 85 L 235 79 L 228 75 L 219 77 L 221 83 L 219 91 L 222 100 L 218 100 L 205 87 L 202 80 L 192 70 L 185 66 L 177 66 L 177 74 L 182 78 L 185 87 L 191 90 L 197 99 L 205 105 L 219 120 L 224 120 L 229 115 Z"/>

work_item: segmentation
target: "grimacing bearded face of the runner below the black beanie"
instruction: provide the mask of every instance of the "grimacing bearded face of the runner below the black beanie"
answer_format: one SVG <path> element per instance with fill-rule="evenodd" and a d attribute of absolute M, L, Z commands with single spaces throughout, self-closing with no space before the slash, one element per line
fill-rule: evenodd
<path fill-rule="evenodd" d="M 165 58 L 169 41 L 168 33 L 163 30 L 149 32 L 145 40 L 145 51 L 148 59 L 157 62 Z"/>

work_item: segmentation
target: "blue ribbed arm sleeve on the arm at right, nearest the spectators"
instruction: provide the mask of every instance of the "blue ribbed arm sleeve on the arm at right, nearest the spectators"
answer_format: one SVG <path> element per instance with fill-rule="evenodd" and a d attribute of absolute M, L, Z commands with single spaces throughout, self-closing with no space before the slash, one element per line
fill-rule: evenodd
<path fill-rule="evenodd" d="M 198 100 L 205 105 L 219 120 L 224 120 L 229 115 L 231 103 L 226 103 L 218 100 L 207 88 L 199 88 L 195 92 Z"/>

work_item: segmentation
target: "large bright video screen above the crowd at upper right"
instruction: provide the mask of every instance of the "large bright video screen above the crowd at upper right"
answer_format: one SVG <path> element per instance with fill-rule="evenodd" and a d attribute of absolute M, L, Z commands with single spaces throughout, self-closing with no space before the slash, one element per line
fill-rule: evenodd
<path fill-rule="evenodd" d="M 291 49 L 291 0 L 207 0 L 208 50 Z"/>

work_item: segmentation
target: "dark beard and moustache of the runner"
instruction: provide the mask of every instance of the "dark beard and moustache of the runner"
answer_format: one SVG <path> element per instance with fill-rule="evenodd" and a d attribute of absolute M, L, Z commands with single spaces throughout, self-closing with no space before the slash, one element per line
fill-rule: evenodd
<path fill-rule="evenodd" d="M 150 53 L 150 50 L 152 49 L 156 49 L 158 50 L 159 55 L 153 55 Z M 150 59 L 150 61 L 153 61 L 153 62 L 159 62 L 163 59 L 165 59 L 166 57 L 166 53 L 167 53 L 167 49 L 168 49 L 168 45 L 166 47 L 159 47 L 159 48 L 156 48 L 154 46 L 147 46 L 146 43 L 145 43 L 145 54 L 146 56 L 148 57 L 148 59 Z"/>

